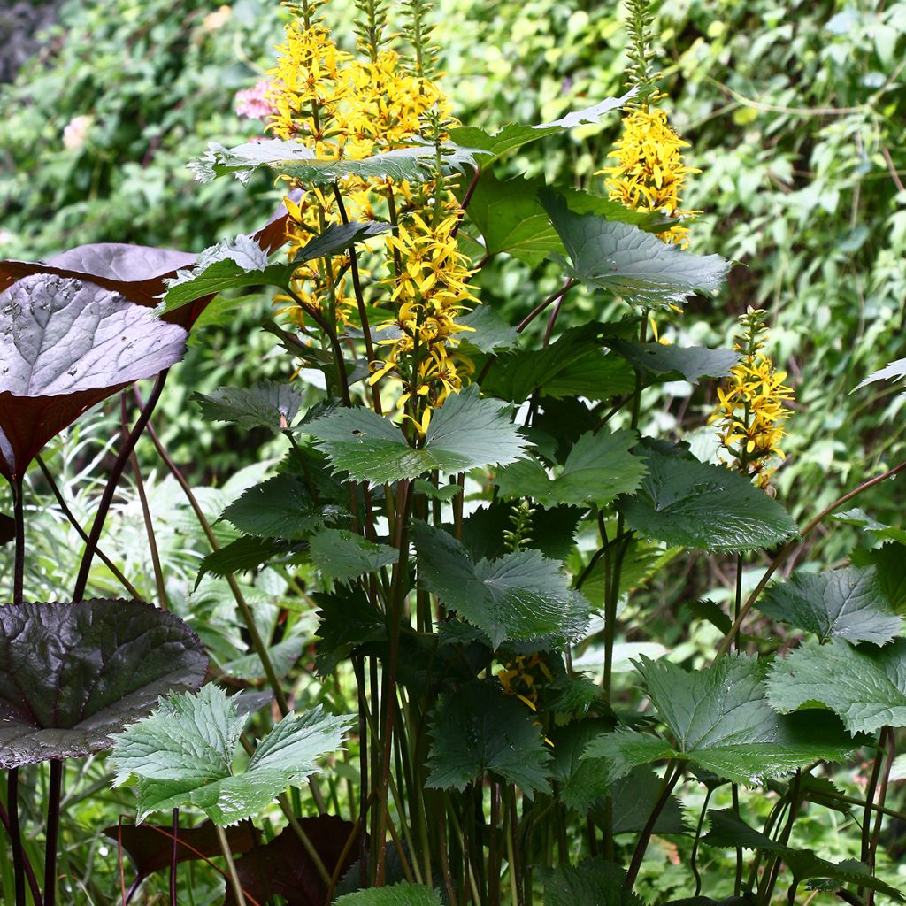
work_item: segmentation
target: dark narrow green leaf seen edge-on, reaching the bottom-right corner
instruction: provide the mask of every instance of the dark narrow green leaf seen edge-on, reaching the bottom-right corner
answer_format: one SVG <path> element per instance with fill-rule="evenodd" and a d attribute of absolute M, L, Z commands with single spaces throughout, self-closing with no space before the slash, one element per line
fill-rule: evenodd
<path fill-rule="evenodd" d="M 749 827 L 741 818 L 729 809 L 719 812 L 708 812 L 711 829 L 701 838 L 702 843 L 719 849 L 758 849 L 765 853 L 778 853 L 786 867 L 797 882 L 812 878 L 826 878 L 839 885 L 856 884 L 871 891 L 884 893 L 894 900 L 903 902 L 901 892 L 872 877 L 867 865 L 854 859 L 842 863 L 828 862 L 817 856 L 812 850 L 796 850 L 784 843 L 772 840 L 766 834 Z"/>

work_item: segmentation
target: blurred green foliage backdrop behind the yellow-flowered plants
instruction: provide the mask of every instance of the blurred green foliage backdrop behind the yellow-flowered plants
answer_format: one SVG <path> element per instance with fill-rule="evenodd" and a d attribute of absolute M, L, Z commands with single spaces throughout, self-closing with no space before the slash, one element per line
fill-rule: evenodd
<path fill-rule="evenodd" d="M 717 345 L 747 305 L 770 309 L 776 359 L 797 393 L 778 493 L 806 516 L 892 465 L 901 441 L 898 388 L 850 393 L 903 354 L 906 3 L 672 0 L 655 9 L 661 85 L 702 171 L 685 199 L 703 212 L 692 250 L 739 262 L 717 300 L 701 298 L 665 326 Z M 265 0 L 80 0 L 56 14 L 38 53 L 0 86 L 0 254 L 43 257 L 97 241 L 198 250 L 267 216 L 279 191 L 264 174 L 251 191 L 227 180 L 202 187 L 185 164 L 209 140 L 261 134 L 259 120 L 236 114 L 235 96 L 265 77 L 284 10 Z M 324 14 L 352 43 L 349 0 Z M 435 16 L 444 84 L 467 124 L 551 120 L 622 90 L 615 2 L 439 0 Z M 614 116 L 575 130 L 511 169 L 543 168 L 602 192 L 593 171 L 606 165 L 618 126 Z M 554 265 L 532 275 L 495 262 L 483 298 L 515 313 L 535 298 L 530 281 L 544 286 L 555 274 Z M 207 329 L 170 381 L 167 438 L 178 457 L 204 461 L 207 477 L 224 480 L 247 450 L 198 426 L 188 393 L 282 367 L 257 330 L 267 311 L 264 299 L 250 301 L 228 329 Z M 658 429 L 702 425 L 708 397 L 669 390 Z M 863 506 L 897 521 L 888 485 Z M 848 544 L 841 538 L 834 555 Z"/>

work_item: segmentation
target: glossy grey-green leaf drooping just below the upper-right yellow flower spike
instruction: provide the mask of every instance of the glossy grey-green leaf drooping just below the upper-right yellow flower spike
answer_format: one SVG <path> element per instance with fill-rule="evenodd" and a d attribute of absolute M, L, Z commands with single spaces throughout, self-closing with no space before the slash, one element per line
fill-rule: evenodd
<path fill-rule="evenodd" d="M 692 255 L 637 226 L 574 214 L 550 191 L 541 193 L 541 201 L 572 262 L 567 272 L 631 304 L 682 304 L 696 292 L 713 293 L 727 275 L 729 262 L 720 255 Z"/>

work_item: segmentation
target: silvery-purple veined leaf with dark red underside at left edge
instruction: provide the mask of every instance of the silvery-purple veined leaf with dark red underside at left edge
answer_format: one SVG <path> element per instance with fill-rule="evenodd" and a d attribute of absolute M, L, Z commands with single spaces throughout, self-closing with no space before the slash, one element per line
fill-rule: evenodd
<path fill-rule="evenodd" d="M 0 474 L 132 381 L 179 361 L 186 332 L 100 286 L 53 274 L 0 293 Z"/>

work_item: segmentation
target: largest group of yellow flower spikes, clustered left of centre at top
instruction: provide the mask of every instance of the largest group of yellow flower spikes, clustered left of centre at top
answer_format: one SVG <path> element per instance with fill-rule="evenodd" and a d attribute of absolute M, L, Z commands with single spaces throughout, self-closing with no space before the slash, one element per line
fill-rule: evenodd
<path fill-rule="evenodd" d="M 309 7 L 286 26 L 278 63 L 268 72 L 266 100 L 274 112 L 267 128 L 280 139 L 303 142 L 320 159 L 357 160 L 420 143 L 434 145 L 439 160 L 455 122 L 448 101 L 424 72 L 425 54 L 407 63 L 385 46 L 383 20 L 371 13 L 360 31 L 361 59 L 338 49 Z M 305 189 L 298 201 L 285 201 L 291 258 L 313 235 L 347 218 L 389 219 L 396 227 L 396 235 L 372 240 L 365 255 L 375 275 L 369 304 L 392 310 L 376 327 L 384 335 L 377 348 L 386 357 L 371 362 L 371 386 L 385 376 L 399 380 L 398 407 L 419 434 L 427 429 L 431 410 L 460 390 L 470 368 L 456 353 L 458 334 L 468 329 L 457 317 L 464 303 L 477 299 L 467 288 L 467 257 L 458 250 L 462 211 L 452 188 L 440 172 L 418 186 L 347 178 L 336 192 Z M 287 311 L 300 324 L 307 323 L 306 311 L 355 322 L 363 300 L 350 265 L 350 255 L 343 254 L 299 268 L 293 294 L 284 297 Z M 387 295 L 381 298 L 375 289 Z"/>

